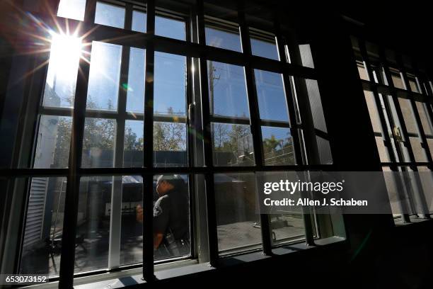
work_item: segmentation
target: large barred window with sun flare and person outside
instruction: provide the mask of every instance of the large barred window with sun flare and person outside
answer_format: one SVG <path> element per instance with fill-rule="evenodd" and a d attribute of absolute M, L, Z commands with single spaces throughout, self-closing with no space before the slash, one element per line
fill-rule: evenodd
<path fill-rule="evenodd" d="M 52 28 L 22 104 L 8 169 L 25 176 L 7 190 L 22 198 L 21 273 L 71 286 L 141 266 L 147 280 L 160 263 L 337 234 L 313 210 L 258 209 L 260 181 L 333 164 L 308 43 L 161 5 L 60 1 L 57 17 L 85 25 Z"/>

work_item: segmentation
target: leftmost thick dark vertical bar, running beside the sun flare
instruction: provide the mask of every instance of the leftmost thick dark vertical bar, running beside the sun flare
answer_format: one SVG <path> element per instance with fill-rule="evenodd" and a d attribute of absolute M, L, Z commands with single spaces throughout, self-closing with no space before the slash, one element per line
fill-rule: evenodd
<path fill-rule="evenodd" d="M 86 3 L 85 20 L 93 21 L 95 17 L 95 0 L 88 0 Z M 91 43 L 91 38 L 84 40 Z M 91 45 L 83 46 L 88 52 L 84 57 L 91 55 Z M 74 263 L 75 263 L 75 239 L 76 239 L 76 218 L 78 215 L 78 201 L 81 166 L 81 154 L 83 152 L 83 133 L 86 119 L 86 102 L 88 75 L 90 64 L 80 58 L 79 71 L 76 81 L 76 92 L 74 100 L 74 118 L 72 121 L 71 146 L 69 154 L 69 174 L 67 178 L 67 191 L 64 203 L 64 220 L 62 236 L 62 258 L 60 259 L 59 288 L 73 288 L 74 286 Z"/>

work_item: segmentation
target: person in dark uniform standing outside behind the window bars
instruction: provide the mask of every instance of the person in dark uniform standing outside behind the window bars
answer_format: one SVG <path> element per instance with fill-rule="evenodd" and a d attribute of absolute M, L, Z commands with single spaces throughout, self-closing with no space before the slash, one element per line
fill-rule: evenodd
<path fill-rule="evenodd" d="M 187 184 L 179 175 L 161 175 L 156 182 L 154 204 L 155 258 L 190 254 L 190 218 Z M 137 208 L 142 222 L 143 210 Z"/>

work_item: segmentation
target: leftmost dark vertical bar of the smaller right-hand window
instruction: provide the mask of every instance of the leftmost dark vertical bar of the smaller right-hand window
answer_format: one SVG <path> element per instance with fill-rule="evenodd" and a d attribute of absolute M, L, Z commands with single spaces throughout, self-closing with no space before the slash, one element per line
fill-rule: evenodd
<path fill-rule="evenodd" d="M 380 109 L 382 107 L 382 105 L 381 105 L 381 101 L 379 98 L 379 93 L 377 91 L 377 87 L 376 87 L 375 82 L 374 82 L 374 74 L 373 74 L 373 70 L 371 69 L 371 64 L 370 64 L 369 56 L 368 56 L 367 51 L 366 51 L 366 45 L 365 45 L 364 39 L 359 39 L 359 50 L 360 50 L 362 58 L 364 60 L 365 69 L 366 69 L 367 75 L 369 77 L 369 81 L 371 82 L 371 84 L 374 84 L 373 89 L 372 89 L 372 93 L 374 95 L 374 101 L 376 102 L 376 107 L 378 108 L 378 112 L 379 112 L 379 119 L 381 121 L 381 129 L 383 132 L 383 137 L 385 138 L 385 147 L 388 148 L 388 153 L 389 153 L 389 157 L 390 157 L 391 162 L 397 163 L 396 156 L 394 155 L 394 149 L 393 149 L 393 145 L 391 142 L 391 137 L 388 135 L 388 126 L 386 124 L 385 115 L 383 115 L 383 111 Z M 385 102 L 386 99 L 384 98 L 383 101 Z M 387 113 L 388 122 L 392 125 L 393 120 L 392 120 L 391 115 L 389 115 L 389 113 L 391 113 L 391 111 L 390 111 L 389 106 L 387 106 L 386 102 L 385 102 L 385 104 L 386 104 L 386 111 L 388 111 L 388 113 Z M 396 144 L 396 150 L 397 150 L 398 157 L 401 159 L 403 157 L 403 155 L 401 155 L 397 144 Z M 391 166 L 391 170 L 396 171 L 397 166 Z M 399 194 L 399 198 L 401 200 L 398 203 L 398 205 L 400 208 L 402 219 L 403 219 L 403 222 L 410 222 L 410 217 L 409 217 L 408 213 L 406 213 L 406 212 L 408 212 L 408 208 L 407 208 L 406 204 L 403 203 L 403 200 L 405 199 L 404 192 L 403 192 L 404 184 L 402 183 L 400 178 L 398 178 L 397 181 L 398 181 L 398 183 L 397 183 L 398 194 Z"/>

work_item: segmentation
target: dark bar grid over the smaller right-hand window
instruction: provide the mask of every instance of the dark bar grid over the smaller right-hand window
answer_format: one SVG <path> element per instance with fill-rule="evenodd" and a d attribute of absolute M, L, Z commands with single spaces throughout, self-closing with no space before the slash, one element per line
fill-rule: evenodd
<path fill-rule="evenodd" d="M 421 101 L 422 103 L 427 103 L 427 111 L 428 115 L 427 117 L 432 120 L 433 113 L 431 106 L 429 103 L 432 103 L 432 98 L 428 96 L 428 92 L 425 89 L 422 89 L 420 92 L 412 91 L 412 88 L 409 83 L 408 79 L 408 72 L 406 71 L 403 60 L 401 55 L 396 56 L 396 63 L 393 63 L 393 66 L 398 67 L 401 81 L 403 82 L 403 89 L 400 89 L 396 86 L 394 86 L 393 80 L 392 80 L 392 73 L 391 69 L 389 68 L 390 63 L 388 62 L 385 50 L 382 46 L 379 47 L 379 60 L 375 64 L 371 64 L 371 60 L 369 57 L 369 52 L 366 50 L 366 42 L 363 38 L 358 38 L 359 42 L 359 52 L 362 57 L 362 61 L 364 62 L 364 69 L 366 69 L 366 73 L 368 76 L 368 79 L 375 79 L 375 81 L 369 81 L 362 79 L 362 84 L 364 86 L 364 90 L 371 91 L 374 95 L 374 100 L 376 102 L 376 107 L 379 110 L 379 120 L 381 125 L 381 131 L 383 132 L 383 135 L 381 133 L 375 133 L 377 137 L 383 137 L 384 145 L 388 149 L 388 154 L 390 158 L 390 162 L 381 162 L 381 166 L 383 169 L 389 168 L 391 171 L 408 171 L 408 169 L 411 169 L 412 171 L 418 171 L 419 166 L 427 166 L 430 170 L 432 170 L 432 154 L 430 152 L 430 149 L 427 145 L 427 135 L 425 135 L 424 128 L 421 123 L 420 115 L 417 111 L 417 106 L 415 103 L 415 100 Z M 357 52 L 355 48 L 355 53 Z M 380 67 L 381 70 L 383 70 L 383 83 L 376 80 L 377 76 L 374 75 L 374 65 L 376 67 Z M 418 70 L 415 61 L 412 61 L 411 63 L 413 72 L 416 76 L 422 75 Z M 418 89 L 420 88 L 418 77 L 415 78 L 417 81 Z M 422 94 L 421 94 L 422 93 Z M 391 96 L 392 103 L 390 103 L 390 99 L 387 97 L 387 95 Z M 403 113 L 400 107 L 400 102 L 398 101 L 398 98 L 406 98 L 410 101 L 410 109 L 412 114 L 415 116 L 415 125 L 417 127 L 417 132 L 419 135 L 415 133 L 408 132 L 408 129 L 405 125 L 405 118 L 403 117 Z M 381 99 L 383 101 L 383 105 L 385 106 L 385 112 L 381 110 L 382 107 Z M 391 113 L 391 104 L 396 108 L 396 118 L 397 120 L 400 120 L 400 125 L 395 124 L 395 120 L 393 118 L 393 115 Z M 388 134 L 388 125 L 391 127 L 392 131 L 392 140 L 391 136 Z M 403 140 L 399 141 L 399 136 L 396 135 L 396 130 L 393 130 L 392 128 L 398 128 L 400 127 L 402 130 Z M 420 137 L 422 141 L 422 149 L 423 152 L 425 152 L 427 157 L 427 162 L 417 162 L 415 159 L 415 154 L 412 149 L 412 145 L 410 144 L 410 137 Z M 393 145 L 393 140 L 396 140 L 396 145 Z M 405 158 L 403 148 L 398 145 L 398 142 L 401 142 L 402 145 L 408 150 L 409 159 Z M 395 153 L 396 154 L 395 154 Z M 398 159 L 396 159 L 398 157 Z M 398 180 L 397 186 L 400 188 L 405 187 L 406 190 L 410 191 L 410 184 L 409 183 L 403 183 L 400 179 Z M 420 183 L 419 177 L 417 177 L 416 180 L 416 190 L 418 193 L 422 192 L 422 185 Z M 398 190 L 398 193 L 403 193 L 403 189 Z M 400 196 L 402 199 L 406 198 L 405 196 Z M 418 196 L 420 200 L 425 200 L 423 196 Z M 409 200 L 412 202 L 412 200 Z M 401 212 L 408 212 L 408 208 L 406 208 L 407 204 L 400 202 L 400 211 Z M 425 203 L 421 204 L 423 207 L 428 208 Z M 423 215 L 422 217 L 428 217 L 427 215 Z M 410 222 L 410 215 L 409 214 L 402 214 L 403 222 Z"/>

